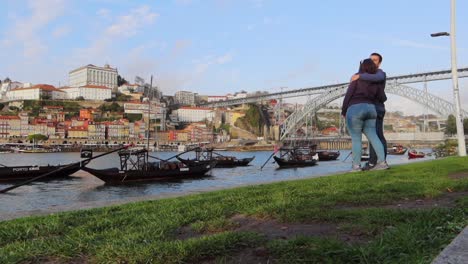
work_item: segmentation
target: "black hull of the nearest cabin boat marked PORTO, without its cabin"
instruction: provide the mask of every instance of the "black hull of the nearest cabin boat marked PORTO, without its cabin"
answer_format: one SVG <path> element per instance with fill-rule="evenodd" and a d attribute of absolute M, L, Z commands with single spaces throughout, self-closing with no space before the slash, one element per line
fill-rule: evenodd
<path fill-rule="evenodd" d="M 193 167 L 178 167 L 174 169 L 152 168 L 151 170 L 128 170 L 122 171 L 118 168 L 109 168 L 103 170 L 82 168 L 95 177 L 101 179 L 106 184 L 125 184 L 131 182 L 146 181 L 171 181 L 183 178 L 200 178 L 205 176 L 214 166 L 214 163 L 203 164 Z"/>

